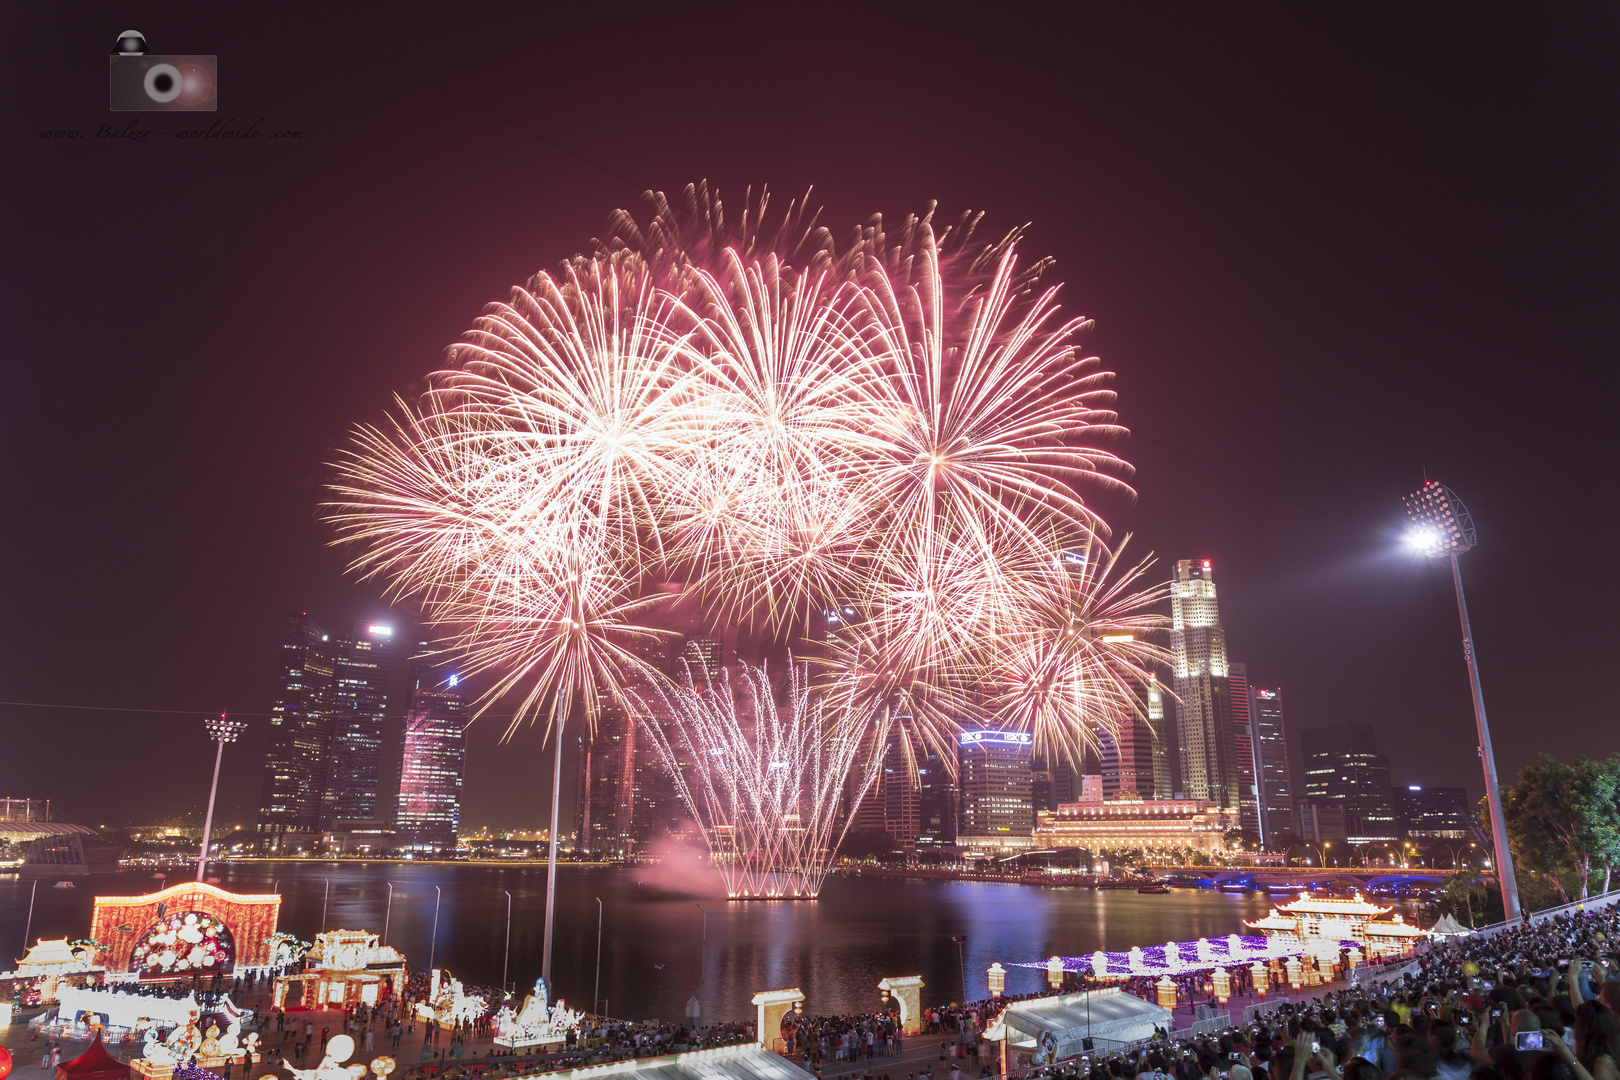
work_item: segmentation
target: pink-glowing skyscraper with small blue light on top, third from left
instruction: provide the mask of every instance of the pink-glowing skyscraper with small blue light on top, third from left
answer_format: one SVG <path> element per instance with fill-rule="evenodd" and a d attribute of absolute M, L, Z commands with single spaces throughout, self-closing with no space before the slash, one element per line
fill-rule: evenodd
<path fill-rule="evenodd" d="M 467 698 L 454 672 L 428 657 L 411 662 L 411 698 L 400 755 L 399 847 L 449 850 L 462 823 L 462 774 L 467 764 Z"/>

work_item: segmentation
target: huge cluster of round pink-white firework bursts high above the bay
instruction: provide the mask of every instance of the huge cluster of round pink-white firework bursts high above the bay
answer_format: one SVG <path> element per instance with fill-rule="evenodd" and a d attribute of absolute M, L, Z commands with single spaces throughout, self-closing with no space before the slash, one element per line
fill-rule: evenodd
<path fill-rule="evenodd" d="M 492 672 L 483 708 L 515 701 L 514 729 L 595 727 L 656 680 L 640 643 L 680 581 L 711 625 L 776 641 L 855 612 L 821 682 L 878 755 L 896 727 L 907 755 L 946 750 L 964 717 L 1095 743 L 1163 653 L 1142 638 L 1158 593 L 1129 591 L 1140 567 L 1108 580 L 1085 500 L 1129 492 L 1089 324 L 977 217 L 839 244 L 804 204 L 765 210 L 727 225 L 706 189 L 653 196 L 491 304 L 339 461 L 353 570 Z"/>

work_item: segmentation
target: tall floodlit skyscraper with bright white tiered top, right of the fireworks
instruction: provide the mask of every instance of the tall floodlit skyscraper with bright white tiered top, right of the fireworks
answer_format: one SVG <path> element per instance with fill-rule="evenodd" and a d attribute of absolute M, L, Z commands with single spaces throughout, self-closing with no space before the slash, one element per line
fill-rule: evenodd
<path fill-rule="evenodd" d="M 1170 615 L 1181 790 L 1187 798 L 1236 810 L 1241 784 L 1226 685 L 1226 635 L 1207 559 L 1176 563 Z"/>

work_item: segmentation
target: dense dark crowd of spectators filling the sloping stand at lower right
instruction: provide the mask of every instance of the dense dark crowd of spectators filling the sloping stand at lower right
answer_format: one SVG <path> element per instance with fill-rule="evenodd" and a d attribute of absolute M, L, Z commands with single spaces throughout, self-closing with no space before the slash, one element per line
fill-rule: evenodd
<path fill-rule="evenodd" d="M 1400 978 L 1059 1065 L 1053 1080 L 1620 1080 L 1620 915 L 1437 942 Z"/>

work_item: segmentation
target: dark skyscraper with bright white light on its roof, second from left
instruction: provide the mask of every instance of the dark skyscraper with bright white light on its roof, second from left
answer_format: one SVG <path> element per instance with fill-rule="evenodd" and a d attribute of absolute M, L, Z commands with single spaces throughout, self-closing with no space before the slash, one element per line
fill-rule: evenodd
<path fill-rule="evenodd" d="M 389 703 L 394 628 L 355 623 L 332 648 L 332 740 L 321 792 L 321 821 L 371 821 L 377 816 L 382 722 Z"/>

